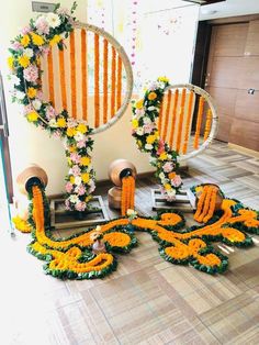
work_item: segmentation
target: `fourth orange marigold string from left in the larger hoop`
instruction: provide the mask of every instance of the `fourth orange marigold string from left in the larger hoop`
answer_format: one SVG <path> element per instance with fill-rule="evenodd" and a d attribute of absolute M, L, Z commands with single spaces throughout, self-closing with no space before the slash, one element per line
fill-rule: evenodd
<path fill-rule="evenodd" d="M 82 119 L 87 120 L 88 114 L 88 85 L 87 85 L 87 33 L 81 30 L 81 91 L 82 91 Z"/>

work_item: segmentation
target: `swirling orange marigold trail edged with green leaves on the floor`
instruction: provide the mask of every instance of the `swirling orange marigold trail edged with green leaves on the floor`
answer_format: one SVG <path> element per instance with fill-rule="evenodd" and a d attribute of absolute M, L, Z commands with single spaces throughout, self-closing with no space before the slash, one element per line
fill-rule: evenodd
<path fill-rule="evenodd" d="M 207 274 L 223 272 L 228 265 L 227 256 L 215 249 L 212 242 L 246 247 L 252 245 L 252 238 L 246 232 L 259 234 L 258 212 L 225 198 L 219 212 L 215 212 L 210 222 L 185 230 L 184 219 L 179 213 L 164 211 L 156 218 L 142 218 L 132 210 L 128 218 L 109 221 L 98 229 L 98 237 L 101 235 L 106 253 L 93 254 L 91 248 L 97 229 L 55 238 L 45 229 L 44 189 L 34 186 L 32 193 L 34 240 L 29 252 L 47 261 L 44 266 L 47 274 L 63 279 L 100 278 L 114 270 L 113 253 L 128 253 L 137 244 L 135 235 L 127 231 L 128 224 L 134 230 L 148 232 L 159 243 L 159 253 L 166 260 L 190 264 Z"/>

